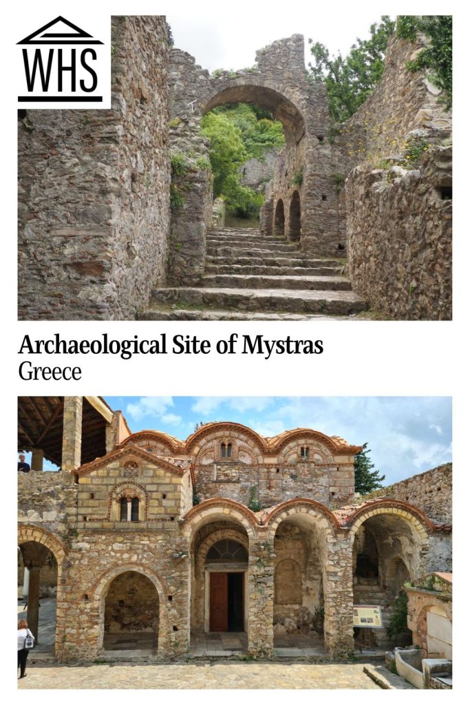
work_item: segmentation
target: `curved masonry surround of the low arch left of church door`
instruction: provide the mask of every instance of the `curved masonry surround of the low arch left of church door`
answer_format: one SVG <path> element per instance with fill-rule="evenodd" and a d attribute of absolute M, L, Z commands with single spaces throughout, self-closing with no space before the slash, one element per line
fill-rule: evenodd
<path fill-rule="evenodd" d="M 97 635 L 97 653 L 103 650 L 103 639 L 104 639 L 104 611 L 106 605 L 106 595 L 108 594 L 109 587 L 113 580 L 125 572 L 137 572 L 140 575 L 147 577 L 150 582 L 156 588 L 156 592 L 159 596 L 159 640 L 157 647 L 157 655 L 159 657 L 166 654 L 166 647 L 168 644 L 169 636 L 169 624 L 168 624 L 168 612 L 166 609 L 166 588 L 161 580 L 161 577 L 148 568 L 145 565 L 139 565 L 138 563 L 121 563 L 113 568 L 106 570 L 101 577 L 94 583 L 90 594 L 92 594 L 95 606 L 98 608 L 98 623 L 96 625 L 96 635 Z"/>

